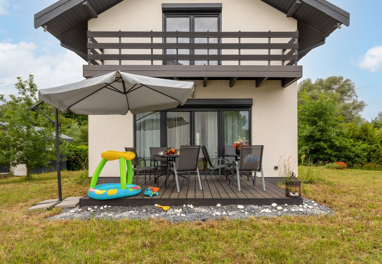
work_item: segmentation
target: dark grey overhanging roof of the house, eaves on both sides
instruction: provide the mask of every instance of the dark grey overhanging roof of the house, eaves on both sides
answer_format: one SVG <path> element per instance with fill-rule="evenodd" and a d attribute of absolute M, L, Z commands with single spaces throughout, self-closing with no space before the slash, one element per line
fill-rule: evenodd
<path fill-rule="evenodd" d="M 59 0 L 34 15 L 34 27 L 47 31 L 84 60 L 87 21 L 123 0 Z M 261 0 L 297 20 L 299 58 L 324 43 L 339 25 L 349 26 L 350 14 L 325 0 Z"/>

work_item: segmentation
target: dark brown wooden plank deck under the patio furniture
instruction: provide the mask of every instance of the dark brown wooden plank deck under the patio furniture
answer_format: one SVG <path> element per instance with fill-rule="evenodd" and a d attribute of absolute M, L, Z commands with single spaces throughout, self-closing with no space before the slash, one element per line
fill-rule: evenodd
<path fill-rule="evenodd" d="M 251 179 L 248 181 L 246 177 L 241 177 L 241 192 L 239 192 L 236 182 L 235 186 L 228 185 L 228 181 L 225 181 L 225 177 L 219 179 L 218 175 L 212 175 L 212 179 L 209 183 L 207 183 L 206 177 L 201 175 L 203 190 L 199 190 L 197 176 L 191 176 L 189 185 L 186 184 L 185 178 L 179 177 L 180 193 L 176 192 L 176 184 L 175 181 L 172 181 L 172 178 L 173 177 L 170 176 L 170 184 L 168 187 L 165 187 L 165 176 L 160 177 L 158 196 L 144 196 L 143 192 L 147 186 L 156 187 L 156 185 L 154 185 L 153 177 L 149 180 L 147 176 L 147 183 L 144 184 L 144 176 L 139 176 L 138 185 L 141 186 L 142 192 L 138 195 L 110 200 L 95 200 L 89 196 L 84 196 L 80 199 L 80 206 L 101 206 L 104 204 L 112 206 L 143 206 L 154 204 L 211 206 L 218 203 L 222 205 L 303 204 L 302 198 L 287 198 L 285 196 L 285 190 L 267 181 L 265 181 L 266 191 L 264 192 L 262 190 L 261 178 L 257 178 L 256 186 L 253 186 Z"/>

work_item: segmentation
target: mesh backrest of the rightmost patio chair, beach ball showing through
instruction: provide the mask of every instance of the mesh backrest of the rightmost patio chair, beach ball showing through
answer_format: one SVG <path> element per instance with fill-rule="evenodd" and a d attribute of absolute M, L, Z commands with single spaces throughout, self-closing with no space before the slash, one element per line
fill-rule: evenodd
<path fill-rule="evenodd" d="M 244 145 L 240 150 L 240 171 L 260 171 L 263 145 Z"/>

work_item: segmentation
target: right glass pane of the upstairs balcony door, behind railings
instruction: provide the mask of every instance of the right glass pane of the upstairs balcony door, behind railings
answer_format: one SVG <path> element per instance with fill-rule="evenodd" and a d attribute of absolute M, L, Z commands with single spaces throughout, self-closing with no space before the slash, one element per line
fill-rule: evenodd
<path fill-rule="evenodd" d="M 218 31 L 218 18 L 215 17 L 199 17 L 194 18 L 194 31 L 195 32 L 217 32 Z M 194 38 L 195 43 L 207 43 L 207 38 Z M 209 38 L 208 43 L 218 43 L 217 38 Z M 195 49 L 195 54 L 206 55 L 207 50 Z M 209 50 L 208 54 L 217 55 L 218 50 Z M 217 65 L 217 61 L 195 61 L 195 65 Z"/>

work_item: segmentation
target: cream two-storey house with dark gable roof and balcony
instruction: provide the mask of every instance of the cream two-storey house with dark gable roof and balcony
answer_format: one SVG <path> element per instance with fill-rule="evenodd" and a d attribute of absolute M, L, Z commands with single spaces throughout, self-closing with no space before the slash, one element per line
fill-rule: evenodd
<path fill-rule="evenodd" d="M 90 175 L 105 150 L 206 145 L 215 158 L 245 137 L 264 145 L 265 177 L 277 177 L 280 156 L 298 159 L 298 61 L 349 23 L 325 0 L 60 0 L 34 16 L 86 61 L 86 78 L 122 70 L 195 82 L 176 109 L 89 116 Z"/>

